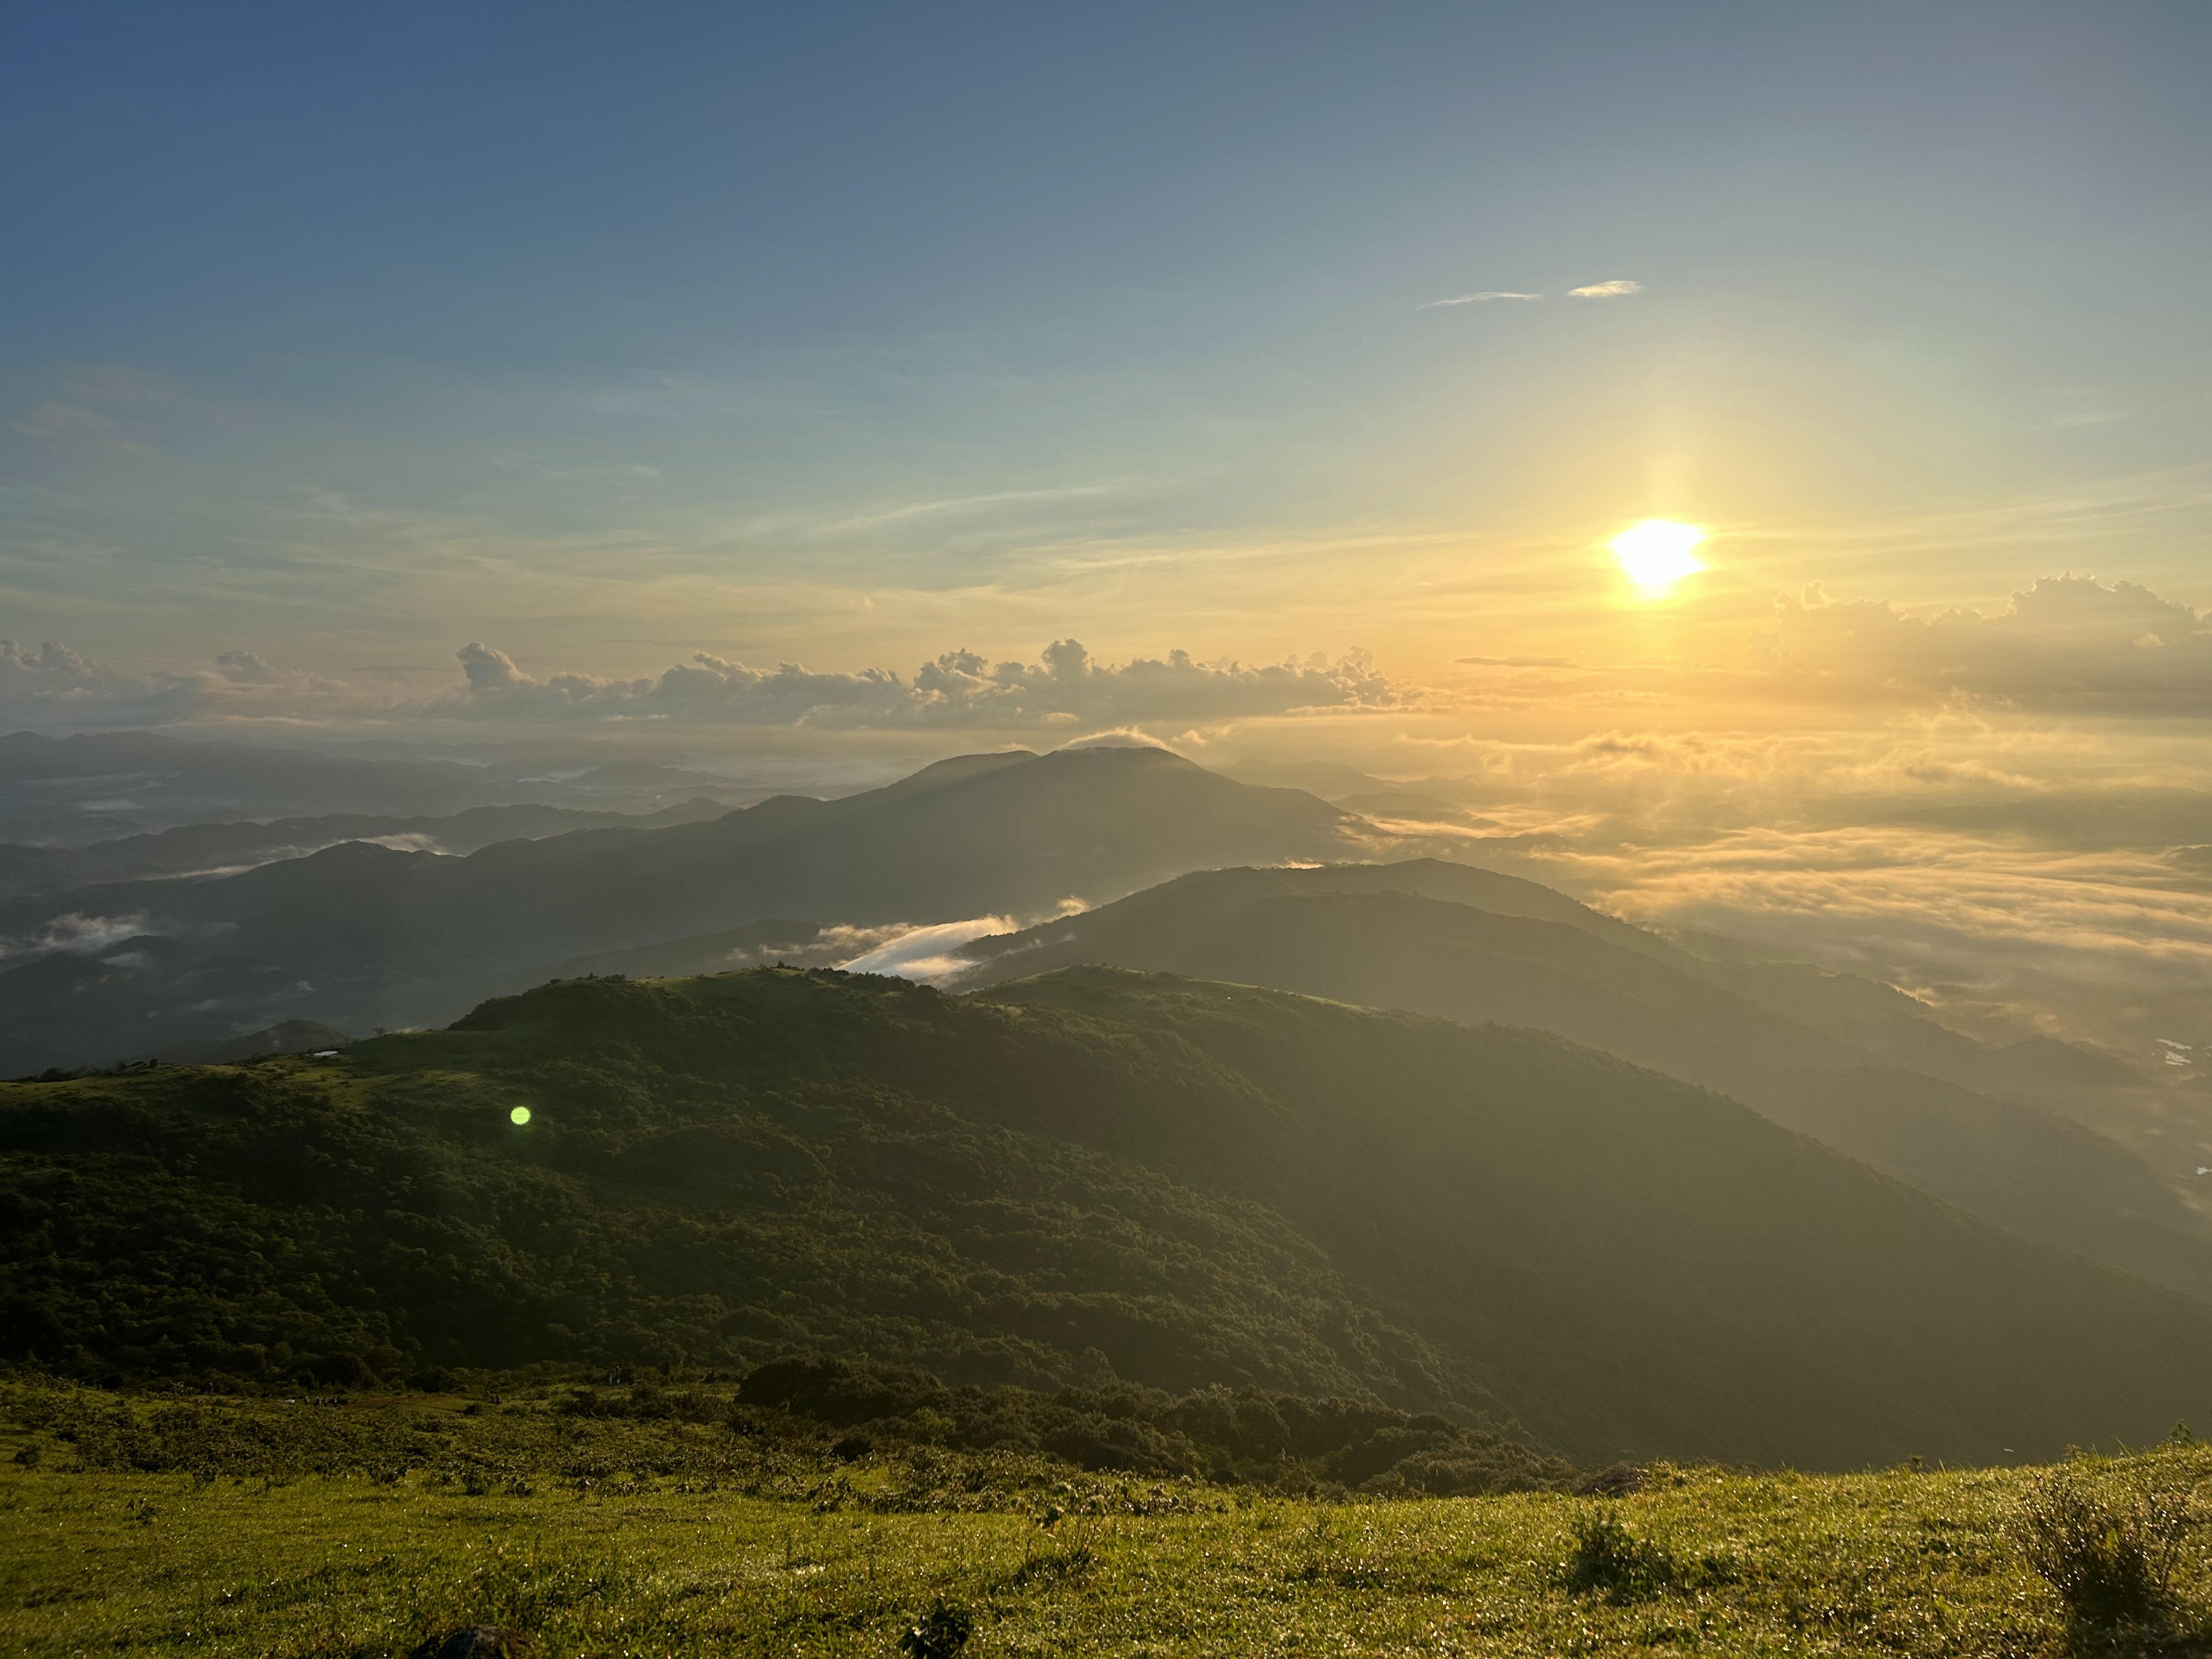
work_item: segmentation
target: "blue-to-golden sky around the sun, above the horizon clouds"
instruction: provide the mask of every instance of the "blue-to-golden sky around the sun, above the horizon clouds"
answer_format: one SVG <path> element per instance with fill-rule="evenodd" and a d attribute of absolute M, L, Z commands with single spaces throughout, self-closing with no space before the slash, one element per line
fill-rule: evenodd
<path fill-rule="evenodd" d="M 1736 664 L 1805 584 L 2212 602 L 2203 4 L 0 31 L 0 633 L 131 670 L 1433 679 Z M 1717 531 L 1663 639 L 1593 553 L 1646 515 Z"/>

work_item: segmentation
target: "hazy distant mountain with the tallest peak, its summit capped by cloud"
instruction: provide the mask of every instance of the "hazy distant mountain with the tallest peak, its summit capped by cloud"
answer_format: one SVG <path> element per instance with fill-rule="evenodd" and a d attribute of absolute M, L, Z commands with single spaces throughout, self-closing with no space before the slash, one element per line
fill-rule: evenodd
<path fill-rule="evenodd" d="M 1051 914 L 1192 867 L 1340 858 L 1356 825 L 1166 750 L 1013 750 L 664 830 L 502 841 L 465 858 L 352 841 L 228 878 L 15 898 L 0 902 L 0 936 L 58 940 L 69 960 L 0 973 L 0 1002 L 22 1009 L 0 1031 L 0 1075 L 279 1020 L 442 1024 L 580 956 L 768 918 L 869 929 Z"/>

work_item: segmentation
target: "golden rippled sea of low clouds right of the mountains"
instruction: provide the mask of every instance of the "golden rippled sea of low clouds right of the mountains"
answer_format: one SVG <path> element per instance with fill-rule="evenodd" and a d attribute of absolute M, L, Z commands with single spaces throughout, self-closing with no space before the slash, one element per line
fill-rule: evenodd
<path fill-rule="evenodd" d="M 1599 909 L 1905 987 L 1991 1040 L 2212 1042 L 2197 726 L 1938 703 L 1829 730 L 1398 748 L 1369 765 L 1524 838 L 1455 856 Z"/>

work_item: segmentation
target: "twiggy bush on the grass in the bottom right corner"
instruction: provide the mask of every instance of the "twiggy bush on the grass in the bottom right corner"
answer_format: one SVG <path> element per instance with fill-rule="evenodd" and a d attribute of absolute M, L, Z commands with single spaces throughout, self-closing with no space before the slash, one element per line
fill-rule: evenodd
<path fill-rule="evenodd" d="M 2163 1621 L 2194 1522 L 2188 1491 L 2075 1464 L 2028 1491 L 2013 1513 L 2013 1535 L 2057 1593 L 2068 1624 L 2112 1630 Z"/>

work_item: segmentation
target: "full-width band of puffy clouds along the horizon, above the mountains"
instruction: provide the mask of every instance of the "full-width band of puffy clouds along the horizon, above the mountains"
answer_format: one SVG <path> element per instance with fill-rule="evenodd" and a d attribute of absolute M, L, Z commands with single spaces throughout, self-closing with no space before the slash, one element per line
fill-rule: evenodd
<path fill-rule="evenodd" d="M 1871 706 L 1991 706 L 2053 717 L 2190 719 L 2212 714 L 2212 613 L 2132 582 L 2042 577 L 2004 608 L 1918 615 L 1880 599 L 1783 595 L 1745 633 L 1734 664 L 1577 664 L 1551 655 L 1469 655 L 1458 666 L 1544 670 L 1520 701 L 1628 697 L 1646 708 L 1703 703 L 1705 723 L 1761 699 Z M 1040 730 L 1062 726 L 1190 728 L 1290 714 L 1493 717 L 1511 703 L 1498 684 L 1422 686 L 1367 653 L 1245 664 L 1188 650 L 1099 661 L 1073 637 L 1035 661 L 945 650 L 911 675 L 887 668 L 754 668 L 710 650 L 659 675 L 617 679 L 575 670 L 533 675 L 504 650 L 469 641 L 462 684 L 403 695 L 226 650 L 208 668 L 124 672 L 62 644 L 0 639 L 0 726 L 113 730 L 226 721 L 664 721 L 708 728 Z M 1856 714 L 1854 719 L 1863 719 Z"/>

